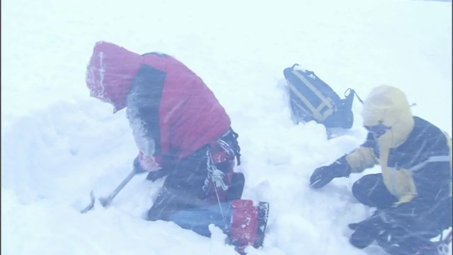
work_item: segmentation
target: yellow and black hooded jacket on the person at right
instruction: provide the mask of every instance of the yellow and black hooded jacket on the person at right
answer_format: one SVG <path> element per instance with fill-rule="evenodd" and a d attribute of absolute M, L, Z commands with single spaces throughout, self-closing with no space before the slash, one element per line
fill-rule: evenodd
<path fill-rule="evenodd" d="M 435 125 L 413 116 L 403 91 L 378 86 L 365 99 L 364 126 L 379 123 L 389 129 L 350 152 L 351 172 L 379 164 L 389 192 L 406 203 L 416 196 L 437 200 L 452 196 L 451 138 Z"/>

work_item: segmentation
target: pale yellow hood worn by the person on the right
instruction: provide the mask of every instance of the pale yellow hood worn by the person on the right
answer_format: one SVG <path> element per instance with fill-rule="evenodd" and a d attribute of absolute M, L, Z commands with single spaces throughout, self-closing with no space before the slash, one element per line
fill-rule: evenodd
<path fill-rule="evenodd" d="M 414 125 L 411 106 L 406 95 L 393 86 L 377 86 L 363 103 L 363 125 L 373 126 L 382 122 L 391 129 L 378 138 L 381 149 L 395 148 L 401 145 Z"/>

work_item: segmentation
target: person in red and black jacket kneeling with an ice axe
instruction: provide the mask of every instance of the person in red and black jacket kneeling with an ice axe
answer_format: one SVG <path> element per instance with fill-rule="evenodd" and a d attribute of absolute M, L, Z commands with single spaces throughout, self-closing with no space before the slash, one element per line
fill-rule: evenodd
<path fill-rule="evenodd" d="M 133 167 L 166 176 L 147 220 L 173 221 L 210 237 L 220 227 L 236 247 L 263 244 L 268 203 L 241 200 L 238 134 L 200 77 L 166 54 L 96 42 L 86 71 L 91 96 L 126 108 L 139 149 Z"/>

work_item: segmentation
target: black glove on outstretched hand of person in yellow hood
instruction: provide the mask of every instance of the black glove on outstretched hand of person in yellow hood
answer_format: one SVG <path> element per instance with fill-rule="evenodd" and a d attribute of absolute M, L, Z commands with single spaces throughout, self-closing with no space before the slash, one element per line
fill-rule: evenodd
<path fill-rule="evenodd" d="M 330 183 L 334 178 L 348 177 L 351 173 L 350 166 L 346 161 L 346 155 L 337 159 L 336 162 L 328 166 L 317 168 L 310 177 L 312 188 L 321 188 Z"/>

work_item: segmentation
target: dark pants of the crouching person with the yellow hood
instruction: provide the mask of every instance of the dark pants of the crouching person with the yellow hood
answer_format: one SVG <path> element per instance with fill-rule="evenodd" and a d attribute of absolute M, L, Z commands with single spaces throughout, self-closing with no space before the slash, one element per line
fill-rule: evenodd
<path fill-rule="evenodd" d="M 377 212 L 363 222 L 377 232 L 384 230 L 391 234 L 389 239 L 388 235 L 379 238 L 376 233 L 377 242 L 390 254 L 411 254 L 412 249 L 425 245 L 452 226 L 451 197 L 439 200 L 418 197 L 394 207 L 398 199 L 387 190 L 382 174 L 363 176 L 352 186 L 352 194 L 360 203 L 377 208 Z"/>

